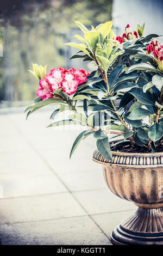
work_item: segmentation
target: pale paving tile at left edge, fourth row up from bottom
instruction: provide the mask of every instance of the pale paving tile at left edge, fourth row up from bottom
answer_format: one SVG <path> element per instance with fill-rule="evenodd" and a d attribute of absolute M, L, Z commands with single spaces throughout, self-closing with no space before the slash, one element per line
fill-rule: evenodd
<path fill-rule="evenodd" d="M 52 171 L 41 157 L 30 148 L 27 151 L 0 153 L 0 184 L 3 174 L 41 175 L 52 174 Z"/>

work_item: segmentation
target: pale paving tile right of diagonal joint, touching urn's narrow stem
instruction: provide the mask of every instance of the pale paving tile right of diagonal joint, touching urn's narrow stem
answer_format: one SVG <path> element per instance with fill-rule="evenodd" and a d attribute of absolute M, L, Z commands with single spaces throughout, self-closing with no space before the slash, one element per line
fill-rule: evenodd
<path fill-rule="evenodd" d="M 109 188 L 73 194 L 90 215 L 136 209 L 133 203 L 115 196 Z"/>

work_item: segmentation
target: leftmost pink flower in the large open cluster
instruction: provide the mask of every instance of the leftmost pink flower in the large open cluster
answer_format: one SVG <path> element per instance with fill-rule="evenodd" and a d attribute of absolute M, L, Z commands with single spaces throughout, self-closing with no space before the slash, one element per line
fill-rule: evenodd
<path fill-rule="evenodd" d="M 42 97 L 42 100 L 53 97 L 52 87 L 44 79 L 41 79 L 39 84 L 40 88 L 36 92 L 37 96 Z"/>

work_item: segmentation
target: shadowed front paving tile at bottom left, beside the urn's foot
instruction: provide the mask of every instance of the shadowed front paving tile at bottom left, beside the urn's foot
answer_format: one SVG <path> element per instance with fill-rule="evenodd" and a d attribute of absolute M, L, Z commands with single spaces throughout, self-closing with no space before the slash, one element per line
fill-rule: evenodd
<path fill-rule="evenodd" d="M 87 216 L 53 221 L 4 224 L 2 245 L 109 245 L 110 241 Z"/>

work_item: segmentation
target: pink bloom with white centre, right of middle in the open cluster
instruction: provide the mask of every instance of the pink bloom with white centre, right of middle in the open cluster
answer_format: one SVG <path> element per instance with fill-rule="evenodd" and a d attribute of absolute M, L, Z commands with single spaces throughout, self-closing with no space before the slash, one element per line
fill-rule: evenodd
<path fill-rule="evenodd" d="M 65 79 L 62 82 L 62 90 L 68 95 L 71 95 L 76 92 L 78 84 L 79 81 L 74 77 L 72 72 L 67 72 L 65 74 Z"/>

